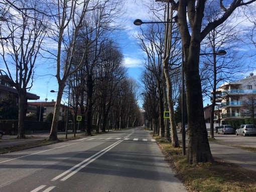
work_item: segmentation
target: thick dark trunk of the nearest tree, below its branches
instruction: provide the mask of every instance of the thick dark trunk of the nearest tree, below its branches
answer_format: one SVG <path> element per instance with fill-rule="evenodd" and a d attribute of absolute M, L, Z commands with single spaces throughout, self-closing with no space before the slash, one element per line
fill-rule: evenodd
<path fill-rule="evenodd" d="M 187 53 L 186 51 L 185 53 Z M 188 126 L 190 127 L 188 130 L 187 160 L 190 164 L 214 161 L 204 119 L 201 79 L 198 66 L 199 53 L 200 45 L 191 43 L 189 57 L 187 57 L 188 60 L 185 60 L 184 68 L 186 75 Z"/>

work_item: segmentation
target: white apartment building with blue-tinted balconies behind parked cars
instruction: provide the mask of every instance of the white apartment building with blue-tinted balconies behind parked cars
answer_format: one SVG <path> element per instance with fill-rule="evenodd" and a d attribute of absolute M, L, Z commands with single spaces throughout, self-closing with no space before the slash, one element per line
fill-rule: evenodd
<path fill-rule="evenodd" d="M 251 116 L 245 113 L 244 103 L 249 97 L 256 96 L 256 76 L 253 73 L 239 81 L 226 82 L 216 91 L 215 122 Z"/>

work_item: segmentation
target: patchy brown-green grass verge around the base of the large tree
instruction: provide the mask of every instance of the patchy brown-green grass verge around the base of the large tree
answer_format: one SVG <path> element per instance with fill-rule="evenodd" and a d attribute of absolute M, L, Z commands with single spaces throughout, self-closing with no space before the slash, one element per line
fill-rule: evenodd
<path fill-rule="evenodd" d="M 176 171 L 177 177 L 183 181 L 188 191 L 195 192 L 237 192 L 256 191 L 256 173 L 235 164 L 215 159 L 215 163 L 199 163 L 190 165 L 182 148 L 174 148 L 170 141 L 153 136 L 163 153 Z"/>

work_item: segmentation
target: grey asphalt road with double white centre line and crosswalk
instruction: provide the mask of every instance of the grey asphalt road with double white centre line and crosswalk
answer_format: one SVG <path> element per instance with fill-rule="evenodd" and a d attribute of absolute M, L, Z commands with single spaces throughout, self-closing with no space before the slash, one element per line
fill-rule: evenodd
<path fill-rule="evenodd" d="M 0 191 L 186 191 L 149 131 L 135 128 L 2 154 Z"/>

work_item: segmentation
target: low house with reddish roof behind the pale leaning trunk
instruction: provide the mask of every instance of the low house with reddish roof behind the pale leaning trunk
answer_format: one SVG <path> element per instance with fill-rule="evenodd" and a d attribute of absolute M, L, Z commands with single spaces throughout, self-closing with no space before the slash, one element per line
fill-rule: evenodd
<path fill-rule="evenodd" d="M 29 108 L 37 108 L 37 107 L 42 107 L 43 110 L 43 121 L 45 121 L 47 115 L 49 113 L 54 113 L 54 106 L 55 106 L 55 101 L 52 100 L 51 102 L 28 102 Z M 64 121 L 65 120 L 65 115 L 67 113 L 68 107 L 66 105 L 60 104 L 60 112 L 59 112 L 59 121 Z"/>

